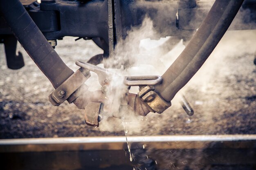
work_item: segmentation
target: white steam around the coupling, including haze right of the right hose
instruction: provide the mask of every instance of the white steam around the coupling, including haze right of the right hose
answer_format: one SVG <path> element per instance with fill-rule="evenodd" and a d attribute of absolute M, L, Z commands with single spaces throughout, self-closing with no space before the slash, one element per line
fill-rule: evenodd
<path fill-rule="evenodd" d="M 241 25 L 243 27 L 245 24 L 243 18 L 246 17 L 247 13 L 247 10 L 238 13 L 236 22 L 233 22 L 232 25 Z M 202 18 L 202 16 L 200 17 Z M 224 89 L 221 85 L 216 87 L 215 82 L 213 82 L 214 77 L 220 74 L 225 76 L 231 72 L 230 68 L 225 67 L 225 60 L 227 60 L 227 57 L 244 55 L 245 53 L 254 53 L 255 48 L 249 47 L 248 44 L 250 43 L 249 41 L 247 42 L 244 40 L 244 37 L 239 35 L 234 36 L 233 34 L 236 34 L 236 31 L 226 33 L 223 38 L 224 40 L 221 40 L 207 62 L 205 62 L 198 73 L 196 73 L 191 81 L 181 90 L 182 93 L 186 95 L 187 93 L 191 93 L 191 91 L 198 91 L 199 94 L 193 94 L 191 96 L 197 95 L 197 98 L 202 97 L 202 99 L 211 97 L 206 94 L 226 93 L 230 95 L 231 93 L 234 93 L 232 91 L 227 91 L 227 89 Z M 126 39 L 121 40 L 121 42 L 117 44 L 115 55 L 104 60 L 104 64 L 99 64 L 98 66 L 108 66 L 110 71 L 117 73 L 119 76 L 162 75 L 180 55 L 185 46 L 183 45 L 182 40 L 177 37 L 165 37 L 160 38 L 159 40 L 151 39 L 155 37 L 159 37 L 159 33 L 154 29 L 153 21 L 146 16 L 141 26 L 132 27 L 132 29 L 128 31 Z M 230 41 L 226 41 L 229 38 L 234 39 L 232 45 L 230 44 Z M 244 49 L 247 49 L 246 52 Z M 99 86 L 95 86 L 95 82 L 97 82 L 98 79 L 97 76 L 95 76 L 96 75 L 92 75 L 92 78 L 90 78 L 93 79 L 93 81 L 91 81 L 93 84 L 89 84 L 89 86 L 99 88 Z M 126 122 L 126 128 L 129 131 L 129 135 L 131 135 L 133 132 L 143 130 L 148 124 L 150 124 L 152 128 L 156 127 L 154 126 L 155 121 L 152 119 L 156 119 L 158 114 L 150 113 L 146 117 L 141 117 L 129 113 L 128 110 L 119 110 L 120 104 L 124 101 L 125 93 L 128 91 L 127 87 L 123 85 L 123 79 L 119 76 L 113 77 L 110 82 L 112 90 L 107 93 L 107 97 L 110 99 L 109 101 L 111 103 L 108 103 L 106 108 L 112 110 L 112 113 L 107 115 L 107 117 L 100 122 L 99 129 L 103 131 L 124 130 L 122 123 Z M 132 87 L 129 92 L 136 94 L 138 91 L 138 87 Z M 203 102 L 193 101 L 192 106 L 197 104 L 203 104 Z M 170 111 L 169 113 L 163 113 L 166 119 L 169 119 L 170 114 L 175 113 L 175 109 L 181 108 L 176 97 L 173 99 L 172 105 L 171 109 L 168 109 L 172 110 L 171 113 Z M 112 108 L 109 108 L 109 106 Z M 213 106 L 216 106 L 216 101 L 213 101 Z M 203 111 L 203 113 L 205 113 L 205 119 L 212 119 L 212 109 L 213 108 L 205 108 Z M 113 115 L 121 119 L 116 119 L 112 117 Z M 126 119 L 122 119 L 124 115 L 129 116 L 126 116 Z"/>

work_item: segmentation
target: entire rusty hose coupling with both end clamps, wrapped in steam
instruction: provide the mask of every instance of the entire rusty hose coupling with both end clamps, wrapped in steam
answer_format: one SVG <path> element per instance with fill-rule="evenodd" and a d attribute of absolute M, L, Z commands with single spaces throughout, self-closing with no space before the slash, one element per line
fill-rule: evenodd
<path fill-rule="evenodd" d="M 90 126 L 99 126 L 99 121 L 106 115 L 127 119 L 131 114 L 162 113 L 171 106 L 171 102 L 166 102 L 155 91 L 154 86 L 163 81 L 161 76 L 120 76 L 86 62 L 77 61 L 76 65 L 80 68 L 49 95 L 49 101 L 59 106 L 67 100 L 85 109 L 85 122 Z M 84 84 L 91 71 L 98 75 L 101 91 L 88 91 Z M 139 87 L 137 95 L 129 93 L 131 86 Z M 193 115 L 184 96 L 182 106 L 188 115 Z"/>

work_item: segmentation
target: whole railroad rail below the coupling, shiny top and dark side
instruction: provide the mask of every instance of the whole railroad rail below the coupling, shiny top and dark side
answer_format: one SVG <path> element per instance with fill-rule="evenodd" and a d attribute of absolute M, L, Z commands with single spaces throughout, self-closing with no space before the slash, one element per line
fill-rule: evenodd
<path fill-rule="evenodd" d="M 255 170 L 256 135 L 1 139 L 4 170 Z M 2 169 L 2 168 L 1 168 Z"/>

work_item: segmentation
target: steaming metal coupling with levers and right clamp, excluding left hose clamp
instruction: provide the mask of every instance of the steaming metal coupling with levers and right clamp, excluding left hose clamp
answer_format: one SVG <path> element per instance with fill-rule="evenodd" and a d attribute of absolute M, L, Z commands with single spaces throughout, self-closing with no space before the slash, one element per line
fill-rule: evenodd
<path fill-rule="evenodd" d="M 89 102 L 85 107 L 85 122 L 91 126 L 99 126 L 99 121 L 108 113 L 113 117 L 126 119 L 130 115 L 128 110 L 132 110 L 135 115 L 145 116 L 150 111 L 162 113 L 171 106 L 153 92 L 154 85 L 162 83 L 160 76 L 123 77 L 89 63 L 76 62 L 76 65 L 98 75 L 101 92 L 106 98 L 105 102 Z M 138 95 L 129 93 L 131 86 L 139 86 Z"/>

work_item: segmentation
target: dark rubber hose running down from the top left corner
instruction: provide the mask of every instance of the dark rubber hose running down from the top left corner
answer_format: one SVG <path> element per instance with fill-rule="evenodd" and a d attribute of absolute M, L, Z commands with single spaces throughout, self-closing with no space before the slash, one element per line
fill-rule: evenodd
<path fill-rule="evenodd" d="M 74 73 L 45 39 L 19 0 L 0 0 L 0 11 L 17 40 L 54 88 Z"/>

